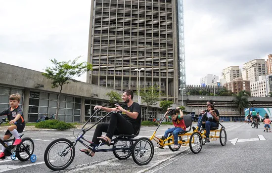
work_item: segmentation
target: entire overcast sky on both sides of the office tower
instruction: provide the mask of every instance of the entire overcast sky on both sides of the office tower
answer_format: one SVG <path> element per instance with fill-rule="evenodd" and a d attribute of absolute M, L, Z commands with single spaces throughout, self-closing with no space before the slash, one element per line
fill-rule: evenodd
<path fill-rule="evenodd" d="M 183 0 L 186 84 L 272 53 L 272 0 Z M 87 61 L 91 0 L 0 0 L 0 62 Z M 80 78 L 86 82 L 86 75 Z"/>

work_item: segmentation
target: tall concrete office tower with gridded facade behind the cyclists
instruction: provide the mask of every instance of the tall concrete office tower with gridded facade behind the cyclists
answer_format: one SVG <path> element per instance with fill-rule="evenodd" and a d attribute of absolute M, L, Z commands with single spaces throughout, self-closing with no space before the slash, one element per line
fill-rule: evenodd
<path fill-rule="evenodd" d="M 87 82 L 114 89 L 157 84 L 177 102 L 185 86 L 182 0 L 91 0 Z"/>

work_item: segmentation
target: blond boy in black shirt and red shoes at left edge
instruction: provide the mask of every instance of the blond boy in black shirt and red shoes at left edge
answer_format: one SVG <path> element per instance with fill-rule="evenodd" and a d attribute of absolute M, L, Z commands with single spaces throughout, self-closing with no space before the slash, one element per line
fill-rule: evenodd
<path fill-rule="evenodd" d="M 19 106 L 21 95 L 19 93 L 12 94 L 9 96 L 10 107 L 0 112 L 0 116 L 6 115 L 9 121 L 9 126 L 4 134 L 3 140 L 9 139 L 12 135 L 15 137 L 13 145 L 18 145 L 22 142 L 18 132 L 23 132 L 25 128 L 25 121 L 23 118 L 22 107 Z M 5 142 L 8 145 L 8 142 Z M 0 159 L 4 158 L 5 147 L 2 146 L 2 152 L 0 152 Z"/>

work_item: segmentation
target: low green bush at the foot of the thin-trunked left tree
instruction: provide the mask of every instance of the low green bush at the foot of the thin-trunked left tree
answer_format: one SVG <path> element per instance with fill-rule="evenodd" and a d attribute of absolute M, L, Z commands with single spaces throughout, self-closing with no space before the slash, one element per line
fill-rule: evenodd
<path fill-rule="evenodd" d="M 62 121 L 57 120 L 46 120 L 39 122 L 35 125 L 35 128 L 38 129 L 56 129 L 56 130 L 67 130 L 67 129 L 73 129 L 75 126 L 73 126 L 71 123 L 65 123 Z"/>

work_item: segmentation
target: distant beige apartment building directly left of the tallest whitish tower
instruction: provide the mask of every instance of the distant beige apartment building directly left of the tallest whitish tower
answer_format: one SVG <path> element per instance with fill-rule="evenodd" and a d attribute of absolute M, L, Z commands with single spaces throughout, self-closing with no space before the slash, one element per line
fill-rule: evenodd
<path fill-rule="evenodd" d="M 242 77 L 242 73 L 239 66 L 230 66 L 222 71 L 222 78 L 226 79 L 226 83 L 240 77 Z"/>

